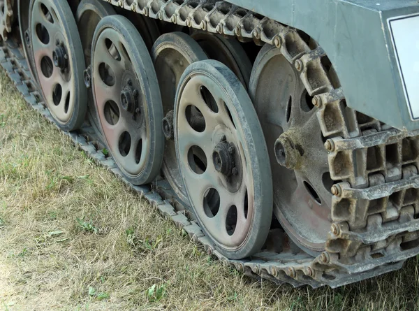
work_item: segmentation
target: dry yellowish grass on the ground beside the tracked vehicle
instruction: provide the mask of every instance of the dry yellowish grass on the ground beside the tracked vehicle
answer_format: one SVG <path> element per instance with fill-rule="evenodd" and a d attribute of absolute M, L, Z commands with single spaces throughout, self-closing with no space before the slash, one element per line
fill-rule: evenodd
<path fill-rule="evenodd" d="M 250 280 L 92 164 L 0 73 L 0 310 L 413 310 L 417 261 L 335 290 Z"/>

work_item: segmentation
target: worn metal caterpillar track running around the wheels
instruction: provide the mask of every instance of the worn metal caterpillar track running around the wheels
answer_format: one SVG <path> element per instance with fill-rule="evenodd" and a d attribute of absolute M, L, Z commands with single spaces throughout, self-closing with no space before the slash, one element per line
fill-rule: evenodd
<path fill-rule="evenodd" d="M 340 181 L 332 187 L 333 224 L 326 251 L 316 257 L 295 251 L 286 243 L 287 236 L 279 233 L 280 252 L 228 259 L 214 249 L 166 180 L 141 187 L 131 185 L 115 162 L 103 154 L 89 125 L 80 131 L 64 132 L 97 164 L 112 171 L 158 208 L 163 217 L 203 245 L 207 254 L 256 279 L 294 287 L 308 284 L 335 288 L 402 268 L 406 259 L 419 253 L 419 132 L 392 129 L 347 108 L 342 90 L 332 86 L 325 71 L 325 52 L 320 47 L 311 50 L 297 30 L 223 1 L 107 2 L 167 22 L 236 36 L 240 41 L 276 45 L 300 71 L 307 91 L 314 96 L 323 136 L 328 138 L 325 148 L 330 152 L 330 175 Z M 31 78 L 20 38 L 0 43 L 0 64 L 29 106 L 55 124 Z M 277 230 L 272 230 L 274 238 Z"/>

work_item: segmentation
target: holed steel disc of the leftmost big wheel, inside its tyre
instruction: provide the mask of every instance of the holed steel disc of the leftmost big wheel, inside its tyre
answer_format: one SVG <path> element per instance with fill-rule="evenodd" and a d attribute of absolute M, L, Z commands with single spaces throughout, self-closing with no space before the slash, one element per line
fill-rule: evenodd
<path fill-rule="evenodd" d="M 61 124 L 66 124 L 73 117 L 75 104 L 76 80 L 73 74 L 75 55 L 71 54 L 66 36 L 66 25 L 57 15 L 57 7 L 49 0 L 34 1 L 31 10 L 31 45 L 38 82 L 45 101 Z M 76 67 L 76 68 L 75 68 Z"/>

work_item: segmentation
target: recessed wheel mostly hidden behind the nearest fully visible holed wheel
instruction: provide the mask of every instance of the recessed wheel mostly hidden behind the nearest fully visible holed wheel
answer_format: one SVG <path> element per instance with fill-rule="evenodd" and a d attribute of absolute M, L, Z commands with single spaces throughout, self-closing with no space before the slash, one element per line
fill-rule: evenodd
<path fill-rule="evenodd" d="M 154 43 L 152 57 L 161 89 L 163 114 L 167 116 L 174 108 L 176 89 L 182 73 L 190 64 L 207 59 L 207 56 L 190 36 L 172 32 L 163 34 Z M 162 171 L 177 196 L 188 203 L 173 139 L 166 140 Z"/>

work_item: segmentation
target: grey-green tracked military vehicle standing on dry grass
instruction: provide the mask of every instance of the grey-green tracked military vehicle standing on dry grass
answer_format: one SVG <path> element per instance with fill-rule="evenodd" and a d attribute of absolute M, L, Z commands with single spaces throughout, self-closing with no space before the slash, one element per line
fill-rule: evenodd
<path fill-rule="evenodd" d="M 29 106 L 208 254 L 339 287 L 419 253 L 416 0 L 1 0 Z"/>

